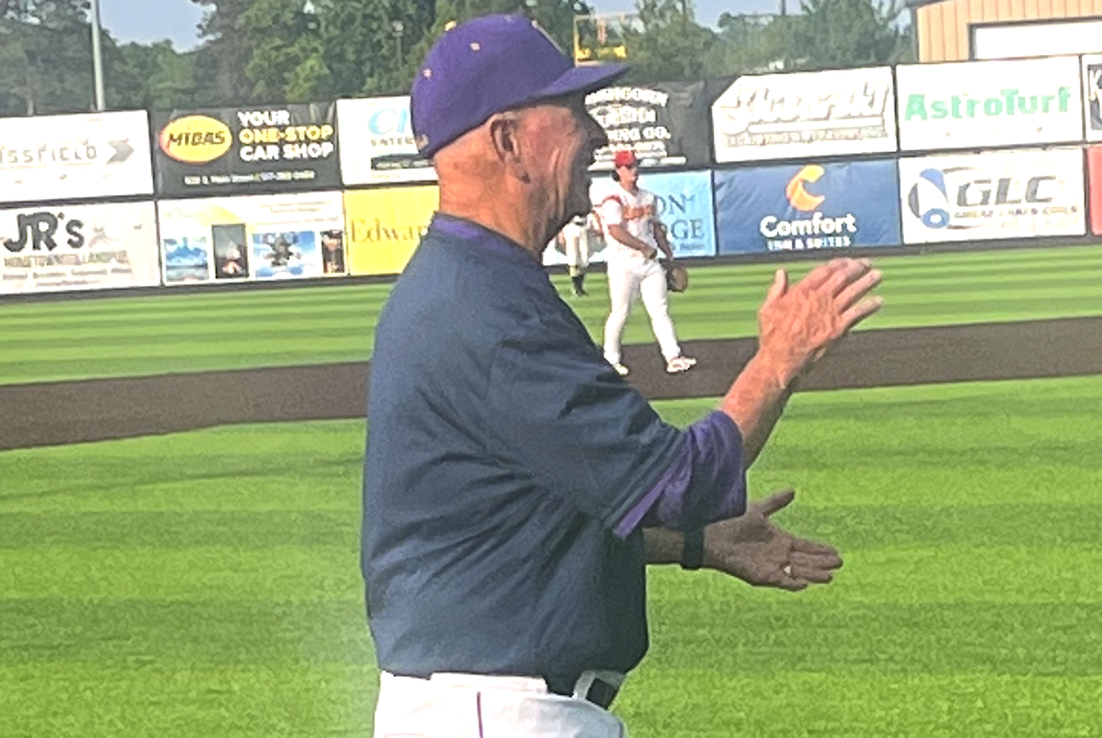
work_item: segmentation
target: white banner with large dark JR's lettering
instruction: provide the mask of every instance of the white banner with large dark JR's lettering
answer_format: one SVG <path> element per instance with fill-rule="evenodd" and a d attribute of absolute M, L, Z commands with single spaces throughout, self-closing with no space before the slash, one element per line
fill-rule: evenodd
<path fill-rule="evenodd" d="M 153 203 L 0 210 L 0 294 L 160 282 Z"/>

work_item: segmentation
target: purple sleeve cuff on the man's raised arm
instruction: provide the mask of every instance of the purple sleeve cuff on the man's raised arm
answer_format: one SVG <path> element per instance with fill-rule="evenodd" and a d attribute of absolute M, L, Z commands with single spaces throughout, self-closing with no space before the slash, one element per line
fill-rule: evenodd
<path fill-rule="evenodd" d="M 624 539 L 645 521 L 673 530 L 701 528 L 746 512 L 743 436 L 722 412 L 710 413 L 684 432 L 670 468 L 628 510 L 615 533 Z"/>

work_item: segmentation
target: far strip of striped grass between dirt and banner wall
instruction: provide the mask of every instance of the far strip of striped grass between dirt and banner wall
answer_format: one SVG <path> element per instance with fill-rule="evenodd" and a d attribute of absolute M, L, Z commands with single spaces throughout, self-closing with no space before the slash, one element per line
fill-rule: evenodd
<path fill-rule="evenodd" d="M 1102 247 L 926 254 L 877 260 L 884 311 L 868 328 L 1102 315 Z M 692 272 L 673 297 L 683 340 L 749 336 L 774 267 Z M 792 268 L 801 274 L 802 263 Z M 565 291 L 568 280 L 557 276 Z M 599 337 L 608 297 L 603 274 L 592 296 L 572 301 Z M 0 383 L 125 377 L 367 359 L 390 286 L 347 285 L 269 292 L 0 305 Z M 627 343 L 653 340 L 641 305 Z"/>

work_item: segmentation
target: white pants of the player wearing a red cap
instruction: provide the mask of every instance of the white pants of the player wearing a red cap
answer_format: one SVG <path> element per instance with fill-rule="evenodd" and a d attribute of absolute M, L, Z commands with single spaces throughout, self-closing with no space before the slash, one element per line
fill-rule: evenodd
<path fill-rule="evenodd" d="M 670 318 L 666 270 L 657 259 L 627 258 L 608 261 L 612 312 L 605 322 L 605 359 L 609 363 L 620 361 L 620 338 L 636 295 L 642 296 L 642 305 L 650 315 L 650 329 L 655 333 L 662 357 L 669 361 L 681 356 L 673 321 Z"/>

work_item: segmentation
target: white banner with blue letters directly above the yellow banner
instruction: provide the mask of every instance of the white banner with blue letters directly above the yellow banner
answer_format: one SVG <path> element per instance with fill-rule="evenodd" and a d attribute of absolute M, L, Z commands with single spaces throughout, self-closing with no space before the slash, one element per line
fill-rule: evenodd
<path fill-rule="evenodd" d="M 337 100 L 341 177 L 345 185 L 435 182 L 410 127 L 410 98 Z"/>

